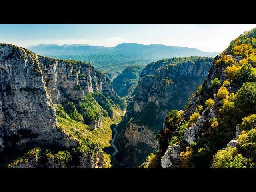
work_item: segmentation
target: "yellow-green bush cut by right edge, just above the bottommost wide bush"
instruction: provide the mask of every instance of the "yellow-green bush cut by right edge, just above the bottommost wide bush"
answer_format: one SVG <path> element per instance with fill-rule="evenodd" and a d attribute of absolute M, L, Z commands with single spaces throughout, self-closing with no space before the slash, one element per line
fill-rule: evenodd
<path fill-rule="evenodd" d="M 242 131 L 242 134 L 238 137 L 238 149 L 246 157 L 256 160 L 256 129 L 250 131 Z"/>

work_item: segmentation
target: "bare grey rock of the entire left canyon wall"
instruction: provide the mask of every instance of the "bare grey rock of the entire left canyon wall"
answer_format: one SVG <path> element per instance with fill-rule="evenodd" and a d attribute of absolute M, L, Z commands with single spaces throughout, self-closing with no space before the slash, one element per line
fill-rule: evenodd
<path fill-rule="evenodd" d="M 37 56 L 29 50 L 0 44 L 0 151 L 6 147 L 80 146 L 57 124 L 54 104 L 79 100 L 84 94 L 107 94 L 120 105 L 108 77 L 85 62 Z M 125 104 L 121 105 L 125 108 Z M 92 122 L 101 126 L 101 119 Z M 102 151 L 93 158 L 84 156 L 82 167 L 97 167 Z M 90 163 L 92 162 L 92 163 Z"/>

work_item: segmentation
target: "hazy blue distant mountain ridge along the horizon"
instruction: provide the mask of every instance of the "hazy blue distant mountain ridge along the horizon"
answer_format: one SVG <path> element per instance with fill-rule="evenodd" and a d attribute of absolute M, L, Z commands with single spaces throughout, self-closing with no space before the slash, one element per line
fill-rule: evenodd
<path fill-rule="evenodd" d="M 122 43 L 115 47 L 92 46 L 82 44 L 57 45 L 38 44 L 29 46 L 29 50 L 40 55 L 83 55 L 83 54 L 129 54 L 141 53 L 152 58 L 171 58 L 174 56 L 208 56 L 213 57 L 220 52 L 202 52 L 196 48 L 166 46 L 162 44 L 143 45 L 138 43 Z"/>

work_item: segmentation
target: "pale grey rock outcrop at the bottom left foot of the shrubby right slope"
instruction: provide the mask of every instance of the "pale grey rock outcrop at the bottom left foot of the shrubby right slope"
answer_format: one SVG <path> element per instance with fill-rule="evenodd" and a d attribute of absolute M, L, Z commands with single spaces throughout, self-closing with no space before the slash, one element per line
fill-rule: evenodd
<path fill-rule="evenodd" d="M 172 145 L 168 147 L 164 156 L 161 159 L 161 166 L 163 168 L 177 168 L 180 162 L 180 146 Z"/>

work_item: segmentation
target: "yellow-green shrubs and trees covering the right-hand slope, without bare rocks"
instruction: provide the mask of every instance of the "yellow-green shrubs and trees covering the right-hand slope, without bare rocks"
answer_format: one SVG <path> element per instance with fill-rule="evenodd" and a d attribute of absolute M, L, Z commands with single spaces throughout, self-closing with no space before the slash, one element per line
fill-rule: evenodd
<path fill-rule="evenodd" d="M 201 111 L 208 114 L 212 109 L 215 117 L 203 123 L 203 131 L 196 142 L 191 143 L 191 148 L 188 148 L 188 144 L 178 132 L 188 120 L 194 119 L 196 108 L 190 108 L 190 104 L 185 108 L 185 112 L 188 109 L 194 110 L 190 117 L 181 116 L 177 119 L 174 117 L 178 115 L 178 111 L 168 113 L 166 128 L 161 130 L 157 137 L 160 144 L 159 153 L 161 156 L 164 154 L 168 140 L 175 140 L 181 147 L 181 154 L 187 154 L 186 161 L 184 157 L 180 157 L 180 167 L 182 161 L 186 162 L 188 167 L 210 167 L 211 164 L 212 167 L 219 168 L 255 167 L 256 28 L 244 32 L 232 41 L 220 56 L 216 56 L 213 65 L 220 72 L 215 74 L 210 85 L 206 79 L 195 96 L 203 106 Z M 224 78 L 220 78 L 223 73 Z M 234 139 L 238 124 L 243 130 L 238 137 L 238 144 L 234 148 L 227 148 L 228 142 Z M 190 125 L 185 127 L 187 126 Z"/>

